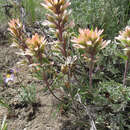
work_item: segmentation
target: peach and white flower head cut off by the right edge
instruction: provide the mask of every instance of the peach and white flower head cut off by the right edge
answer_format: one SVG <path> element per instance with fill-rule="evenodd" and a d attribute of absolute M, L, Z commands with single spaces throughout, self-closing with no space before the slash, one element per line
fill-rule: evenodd
<path fill-rule="evenodd" d="M 127 26 L 124 31 L 119 33 L 120 35 L 116 39 L 121 42 L 120 45 L 123 46 L 126 55 L 130 58 L 130 26 Z"/>

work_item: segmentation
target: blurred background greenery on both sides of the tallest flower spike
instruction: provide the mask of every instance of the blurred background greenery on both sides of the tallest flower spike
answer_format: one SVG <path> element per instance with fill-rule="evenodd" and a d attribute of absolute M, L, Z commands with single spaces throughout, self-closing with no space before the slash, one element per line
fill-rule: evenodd
<path fill-rule="evenodd" d="M 15 0 L 1 0 L 0 23 L 7 20 L 6 10 L 9 10 L 11 17 L 18 17 L 19 6 L 25 9 L 26 21 L 35 22 L 45 19 L 46 10 L 40 5 L 41 2 L 42 0 L 22 0 L 22 3 L 18 4 Z M 14 7 L 8 9 L 3 7 L 7 4 Z M 129 0 L 71 0 L 70 8 L 72 9 L 71 18 L 74 19 L 77 28 L 104 29 L 106 38 L 114 38 L 119 30 L 129 23 Z"/>

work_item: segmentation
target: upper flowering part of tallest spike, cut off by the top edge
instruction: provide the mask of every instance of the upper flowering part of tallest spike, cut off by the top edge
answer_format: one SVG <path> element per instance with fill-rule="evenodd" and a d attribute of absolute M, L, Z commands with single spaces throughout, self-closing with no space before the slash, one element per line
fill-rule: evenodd
<path fill-rule="evenodd" d="M 69 17 L 69 12 L 66 9 L 70 2 L 66 0 L 44 0 L 41 5 L 51 12 L 51 14 L 47 14 L 47 23 L 50 27 L 61 28 L 61 31 L 64 31 Z M 60 36 L 59 38 L 62 39 Z"/>

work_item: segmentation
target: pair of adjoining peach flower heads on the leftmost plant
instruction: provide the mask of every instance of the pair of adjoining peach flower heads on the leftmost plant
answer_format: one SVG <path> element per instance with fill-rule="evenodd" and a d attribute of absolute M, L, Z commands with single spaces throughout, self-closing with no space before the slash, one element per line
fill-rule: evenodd
<path fill-rule="evenodd" d="M 33 63 L 32 56 L 41 60 L 46 44 L 45 37 L 39 36 L 36 33 L 32 38 L 27 38 L 23 31 L 23 25 L 19 22 L 19 19 L 12 19 L 8 24 L 8 30 L 11 32 L 13 37 L 12 46 L 21 49 L 21 52 L 17 54 L 24 55 L 30 64 Z"/>

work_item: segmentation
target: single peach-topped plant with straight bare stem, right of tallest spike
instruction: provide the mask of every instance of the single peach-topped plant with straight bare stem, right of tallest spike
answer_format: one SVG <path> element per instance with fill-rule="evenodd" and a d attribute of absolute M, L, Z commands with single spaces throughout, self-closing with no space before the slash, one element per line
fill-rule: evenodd
<path fill-rule="evenodd" d="M 74 37 L 72 42 L 75 48 L 84 50 L 83 56 L 90 63 L 89 67 L 89 86 L 92 87 L 92 71 L 97 53 L 105 48 L 110 41 L 104 41 L 101 35 L 103 30 L 79 29 L 79 36 Z"/>

